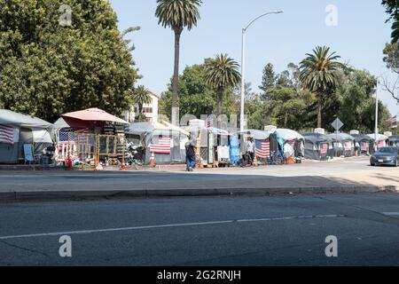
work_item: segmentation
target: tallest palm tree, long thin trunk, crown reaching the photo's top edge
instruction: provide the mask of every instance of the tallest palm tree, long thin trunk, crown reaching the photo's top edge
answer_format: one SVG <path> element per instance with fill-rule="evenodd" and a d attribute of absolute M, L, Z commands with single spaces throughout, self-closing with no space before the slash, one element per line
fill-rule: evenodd
<path fill-rule="evenodd" d="M 175 32 L 175 70 L 173 74 L 173 99 L 172 108 L 177 107 L 178 85 L 179 85 L 179 59 L 180 59 L 180 36 L 184 28 L 191 30 L 197 26 L 200 20 L 201 0 L 157 0 L 155 16 L 159 19 L 158 24 L 164 28 L 172 28 Z M 172 111 L 172 121 L 174 121 Z M 176 119 L 176 118 L 175 118 Z"/>

